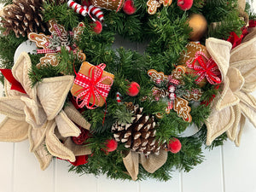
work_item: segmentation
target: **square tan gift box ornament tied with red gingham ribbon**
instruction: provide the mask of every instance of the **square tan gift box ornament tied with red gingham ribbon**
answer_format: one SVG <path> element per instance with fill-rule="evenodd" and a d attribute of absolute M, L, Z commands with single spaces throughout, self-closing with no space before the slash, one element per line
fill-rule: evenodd
<path fill-rule="evenodd" d="M 84 61 L 71 89 L 79 108 L 94 109 L 102 107 L 113 84 L 114 75 L 104 71 L 105 64 L 91 65 Z"/>

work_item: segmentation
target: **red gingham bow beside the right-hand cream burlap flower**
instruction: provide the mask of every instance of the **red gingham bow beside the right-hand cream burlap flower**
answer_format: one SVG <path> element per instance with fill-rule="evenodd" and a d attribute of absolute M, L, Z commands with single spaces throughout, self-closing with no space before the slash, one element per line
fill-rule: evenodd
<path fill-rule="evenodd" d="M 194 61 L 192 64 L 189 64 L 192 59 L 187 61 L 186 64 L 189 68 L 194 69 L 195 74 L 199 76 L 197 79 L 195 79 L 197 83 L 201 82 L 201 80 L 204 78 L 207 78 L 210 84 L 221 83 L 221 79 L 218 78 L 220 76 L 220 71 L 218 70 L 216 62 L 212 60 L 212 57 L 208 59 L 207 55 L 205 55 L 203 52 L 197 51 L 195 53 Z M 199 66 L 195 66 L 196 61 L 198 61 Z"/>

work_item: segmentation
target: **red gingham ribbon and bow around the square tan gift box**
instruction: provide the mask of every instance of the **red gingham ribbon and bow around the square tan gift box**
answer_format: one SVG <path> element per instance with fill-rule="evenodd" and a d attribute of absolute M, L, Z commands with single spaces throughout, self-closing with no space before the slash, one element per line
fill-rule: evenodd
<path fill-rule="evenodd" d="M 90 67 L 88 74 L 89 76 L 82 73 L 77 73 L 74 84 L 78 84 L 79 86 L 83 87 L 83 89 L 76 92 L 79 93 L 76 98 L 79 108 L 84 108 L 84 106 L 89 109 L 97 108 L 97 106 L 95 107 L 95 104 L 96 100 L 100 102 L 100 96 L 102 96 L 104 102 L 106 103 L 105 97 L 108 96 L 108 92 L 113 84 L 113 79 L 108 76 L 102 78 L 102 73 L 105 67 L 106 65 L 103 63 L 96 67 Z M 110 79 L 111 84 L 102 84 L 102 81 L 105 79 Z M 91 97 L 93 98 L 93 102 L 90 104 Z M 80 100 L 82 100 L 82 102 L 79 104 Z"/>

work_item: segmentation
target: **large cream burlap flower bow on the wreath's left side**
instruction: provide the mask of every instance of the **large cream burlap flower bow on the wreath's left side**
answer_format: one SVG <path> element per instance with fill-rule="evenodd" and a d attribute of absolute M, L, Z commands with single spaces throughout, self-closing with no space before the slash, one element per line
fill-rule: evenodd
<path fill-rule="evenodd" d="M 0 141 L 20 142 L 28 137 L 30 150 L 37 156 L 44 170 L 49 166 L 52 156 L 75 161 L 75 155 L 81 154 L 78 148 L 72 144 L 64 145 L 57 136 L 78 137 L 80 130 L 73 122 L 86 129 L 89 129 L 90 124 L 71 103 L 62 110 L 73 84 L 73 76 L 43 79 L 32 88 L 28 77 L 31 67 L 29 55 L 21 53 L 12 68 L 15 79 L 20 82 L 26 94 L 10 90 L 10 84 L 5 80 L 6 96 L 0 98 L 0 113 L 7 117 L 0 124 Z M 88 148 L 80 151 L 90 154 Z"/>

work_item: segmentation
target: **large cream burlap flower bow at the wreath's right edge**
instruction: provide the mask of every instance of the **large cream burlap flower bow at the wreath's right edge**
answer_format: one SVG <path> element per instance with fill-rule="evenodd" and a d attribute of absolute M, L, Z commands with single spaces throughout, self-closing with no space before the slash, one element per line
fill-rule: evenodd
<path fill-rule="evenodd" d="M 256 127 L 256 31 L 247 35 L 235 49 L 224 40 L 207 39 L 207 51 L 222 74 L 222 92 L 215 99 L 206 121 L 207 145 L 225 131 L 231 141 L 240 145 L 245 119 Z"/>

